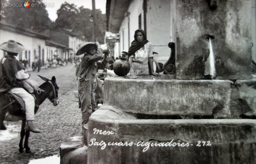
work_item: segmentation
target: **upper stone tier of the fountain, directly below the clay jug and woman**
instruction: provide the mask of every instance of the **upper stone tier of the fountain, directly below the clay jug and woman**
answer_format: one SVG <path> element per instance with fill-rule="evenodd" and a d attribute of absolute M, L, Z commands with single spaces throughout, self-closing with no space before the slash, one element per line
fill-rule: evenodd
<path fill-rule="evenodd" d="M 108 77 L 104 105 L 147 115 L 230 116 L 229 80 L 173 80 L 172 75 Z"/>

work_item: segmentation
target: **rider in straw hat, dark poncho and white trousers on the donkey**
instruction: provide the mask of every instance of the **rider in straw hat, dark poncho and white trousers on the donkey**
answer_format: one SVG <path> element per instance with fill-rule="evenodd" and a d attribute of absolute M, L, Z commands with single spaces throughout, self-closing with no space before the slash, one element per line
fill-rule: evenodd
<path fill-rule="evenodd" d="M 8 40 L 8 42 L 0 45 L 0 49 L 7 53 L 0 62 L 0 92 L 10 92 L 23 99 L 27 119 L 25 130 L 40 133 L 41 131 L 33 124 L 35 118 L 35 99 L 22 88 L 22 80 L 28 79 L 30 73 L 25 73 L 25 67 L 15 58 L 15 56 L 25 50 L 25 47 L 14 40 Z"/>

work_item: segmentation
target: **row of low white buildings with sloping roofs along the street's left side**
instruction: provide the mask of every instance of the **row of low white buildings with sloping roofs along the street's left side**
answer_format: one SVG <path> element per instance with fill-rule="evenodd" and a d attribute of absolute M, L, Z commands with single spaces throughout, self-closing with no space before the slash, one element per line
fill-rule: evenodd
<path fill-rule="evenodd" d="M 69 45 L 63 45 L 52 41 L 50 36 L 45 35 L 44 33 L 38 33 L 34 31 L 29 31 L 23 29 L 19 26 L 11 25 L 6 22 L 0 22 L 0 44 L 7 42 L 8 40 L 15 40 L 16 42 L 21 43 L 25 46 L 26 50 L 21 52 L 16 58 L 19 61 L 28 60 L 29 67 L 32 66 L 32 62 L 35 62 L 38 59 L 41 59 L 43 64 L 47 63 L 47 60 L 52 60 L 56 58 L 68 59 L 70 58 L 70 52 L 73 52 L 74 49 L 77 50 L 77 42 L 82 42 L 82 39 L 73 39 L 71 36 L 68 36 L 69 40 L 72 40 L 72 48 L 69 48 Z M 73 49 L 74 48 L 74 49 Z M 2 50 L 1 50 L 2 51 Z M 4 51 L 0 51 L 0 59 L 4 57 Z"/>

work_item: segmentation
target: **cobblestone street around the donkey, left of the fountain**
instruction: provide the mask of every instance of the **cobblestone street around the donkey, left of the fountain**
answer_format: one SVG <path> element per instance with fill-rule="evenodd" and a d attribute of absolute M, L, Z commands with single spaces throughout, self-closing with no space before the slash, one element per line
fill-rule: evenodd
<path fill-rule="evenodd" d="M 37 75 L 51 79 L 55 76 L 60 87 L 57 106 L 46 99 L 40 105 L 35 116 L 35 124 L 41 133 L 30 133 L 29 146 L 32 153 L 19 153 L 21 121 L 4 122 L 7 132 L 13 135 L 12 139 L 2 139 L 4 131 L 0 131 L 0 163 L 28 163 L 29 160 L 57 155 L 59 145 L 70 137 L 81 135 L 81 110 L 73 96 L 77 81 L 74 65 L 59 66 L 57 68 L 42 69 L 40 72 L 31 72 L 31 78 L 39 85 L 44 81 Z M 10 130 L 11 129 L 11 130 Z"/>

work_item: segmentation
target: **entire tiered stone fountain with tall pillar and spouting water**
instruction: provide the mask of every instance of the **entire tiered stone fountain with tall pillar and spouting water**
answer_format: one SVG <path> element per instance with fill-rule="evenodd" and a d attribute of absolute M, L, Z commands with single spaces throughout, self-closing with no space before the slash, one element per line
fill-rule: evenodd
<path fill-rule="evenodd" d="M 106 78 L 104 104 L 84 126 L 85 159 L 256 163 L 251 0 L 171 6 L 175 73 Z"/>

